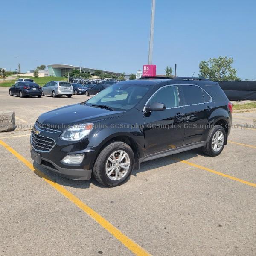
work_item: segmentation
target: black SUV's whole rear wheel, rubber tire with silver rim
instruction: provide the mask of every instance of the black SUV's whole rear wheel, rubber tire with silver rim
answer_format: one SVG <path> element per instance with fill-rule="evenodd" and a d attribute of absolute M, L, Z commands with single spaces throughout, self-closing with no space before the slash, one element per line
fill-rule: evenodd
<path fill-rule="evenodd" d="M 219 143 L 219 147 L 218 147 L 218 145 L 215 147 L 214 141 L 217 140 L 217 137 L 220 138 L 221 134 L 223 134 L 223 141 L 222 141 L 222 143 Z M 225 146 L 226 136 L 227 136 L 226 132 L 221 125 L 213 126 L 207 136 L 206 145 L 204 147 L 202 147 L 204 154 L 206 154 L 210 157 L 216 157 L 219 154 L 221 154 L 221 152 Z M 215 148 L 215 150 L 214 150 L 214 148 Z"/>

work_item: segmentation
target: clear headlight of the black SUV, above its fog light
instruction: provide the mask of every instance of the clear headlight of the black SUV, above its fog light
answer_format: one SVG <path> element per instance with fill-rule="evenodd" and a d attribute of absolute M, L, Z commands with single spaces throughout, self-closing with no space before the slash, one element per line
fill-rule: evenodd
<path fill-rule="evenodd" d="M 81 140 L 88 135 L 92 129 L 93 124 L 79 124 L 71 126 L 61 134 L 61 140 Z"/>

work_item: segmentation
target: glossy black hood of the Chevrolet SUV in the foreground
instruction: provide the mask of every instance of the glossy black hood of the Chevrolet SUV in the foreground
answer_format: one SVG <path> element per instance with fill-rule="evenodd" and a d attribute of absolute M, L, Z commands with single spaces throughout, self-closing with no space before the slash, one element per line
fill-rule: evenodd
<path fill-rule="evenodd" d="M 58 125 L 58 127 L 63 125 L 66 127 L 67 125 L 95 122 L 122 115 L 123 111 L 111 111 L 79 103 L 46 112 L 39 116 L 37 121 L 44 125 Z"/>

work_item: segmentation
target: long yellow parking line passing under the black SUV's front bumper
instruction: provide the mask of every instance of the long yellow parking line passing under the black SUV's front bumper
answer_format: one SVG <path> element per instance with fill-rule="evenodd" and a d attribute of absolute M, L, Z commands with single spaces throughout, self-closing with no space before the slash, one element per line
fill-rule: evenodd
<path fill-rule="evenodd" d="M 96 222 L 98 222 L 102 227 L 104 227 L 105 230 L 108 230 L 109 233 L 111 233 L 117 240 L 119 240 L 123 245 L 125 245 L 135 255 L 138 255 L 138 256 L 149 256 L 150 255 L 146 250 L 144 250 L 142 247 L 140 247 L 139 244 L 137 244 L 134 241 L 132 241 L 131 239 L 129 239 L 128 236 L 125 236 L 125 234 L 123 234 L 120 230 L 118 230 L 116 227 L 114 227 L 110 222 L 105 220 L 105 218 L 103 218 L 101 215 L 99 215 L 97 212 L 95 212 L 89 206 L 84 204 L 84 202 L 82 202 L 79 198 L 77 198 L 75 195 L 70 193 L 63 186 L 52 181 L 47 175 L 45 175 L 43 172 L 39 171 L 38 169 L 34 169 L 34 166 L 32 163 L 30 163 L 28 160 L 26 160 L 22 155 L 20 155 L 17 151 L 15 151 L 9 145 L 4 143 L 2 140 L 0 140 L 0 145 L 2 145 L 9 152 L 11 152 L 22 163 L 24 163 L 27 167 L 29 167 L 29 169 L 31 169 L 33 172 L 35 172 L 35 174 L 37 174 L 44 181 L 46 181 L 48 184 L 50 184 L 58 192 L 60 192 L 62 195 L 64 195 L 66 198 L 68 198 L 73 204 L 75 204 L 77 207 L 79 207 L 81 210 L 83 210 L 85 213 L 87 213 L 87 215 L 89 215 Z"/>

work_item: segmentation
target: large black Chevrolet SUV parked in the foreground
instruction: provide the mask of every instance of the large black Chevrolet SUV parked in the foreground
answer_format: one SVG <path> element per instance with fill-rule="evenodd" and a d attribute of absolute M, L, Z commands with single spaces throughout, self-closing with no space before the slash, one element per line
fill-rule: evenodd
<path fill-rule="evenodd" d="M 134 167 L 202 148 L 217 156 L 227 144 L 232 105 L 208 79 L 122 81 L 86 102 L 38 117 L 31 156 L 64 177 L 105 186 L 124 183 Z"/>

